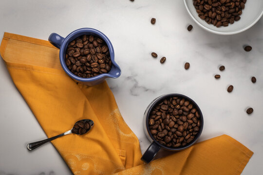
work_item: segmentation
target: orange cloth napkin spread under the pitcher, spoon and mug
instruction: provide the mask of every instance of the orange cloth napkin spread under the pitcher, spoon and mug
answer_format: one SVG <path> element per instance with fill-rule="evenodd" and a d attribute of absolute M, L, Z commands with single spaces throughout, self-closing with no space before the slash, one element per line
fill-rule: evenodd
<path fill-rule="evenodd" d="M 9 33 L 0 46 L 16 87 L 47 137 L 71 129 L 80 119 L 94 121 L 84 136 L 71 134 L 52 141 L 75 175 L 238 175 L 253 155 L 223 135 L 144 164 L 139 141 L 107 83 L 76 84 L 62 70 L 58 53 L 48 41 Z"/>

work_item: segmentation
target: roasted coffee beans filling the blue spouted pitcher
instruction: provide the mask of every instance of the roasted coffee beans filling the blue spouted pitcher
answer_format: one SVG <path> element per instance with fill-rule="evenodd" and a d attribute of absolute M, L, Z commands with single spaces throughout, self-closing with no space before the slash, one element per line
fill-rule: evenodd
<path fill-rule="evenodd" d="M 107 44 L 94 35 L 81 35 L 71 41 L 65 57 L 68 69 L 82 78 L 108 73 L 112 68 Z"/>

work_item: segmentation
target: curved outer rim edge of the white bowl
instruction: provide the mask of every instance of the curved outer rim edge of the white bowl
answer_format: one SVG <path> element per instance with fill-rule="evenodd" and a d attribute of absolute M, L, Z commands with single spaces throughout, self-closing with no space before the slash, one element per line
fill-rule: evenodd
<path fill-rule="evenodd" d="M 185 6 L 186 6 L 186 9 L 187 9 L 187 12 L 188 14 L 190 15 L 190 17 L 200 26 L 202 27 L 203 29 L 207 30 L 208 32 L 211 32 L 211 33 L 214 33 L 214 34 L 217 34 L 217 35 L 234 35 L 234 34 L 239 34 L 241 32 L 244 32 L 246 31 L 247 29 L 249 29 L 250 27 L 252 27 L 254 24 L 256 24 L 260 18 L 262 17 L 263 15 L 263 11 L 261 12 L 261 14 L 258 16 L 258 18 L 256 20 L 254 20 L 254 22 L 252 22 L 250 25 L 248 25 L 247 27 L 245 27 L 244 29 L 241 29 L 241 30 L 238 30 L 238 31 L 235 31 L 235 32 L 218 32 L 218 31 L 214 31 L 212 29 L 209 29 L 207 28 L 206 26 L 204 26 L 203 24 L 201 24 L 198 20 L 196 20 L 193 15 L 191 14 L 189 8 L 188 8 L 188 5 L 186 3 L 186 0 L 184 0 L 184 3 L 185 3 Z"/>

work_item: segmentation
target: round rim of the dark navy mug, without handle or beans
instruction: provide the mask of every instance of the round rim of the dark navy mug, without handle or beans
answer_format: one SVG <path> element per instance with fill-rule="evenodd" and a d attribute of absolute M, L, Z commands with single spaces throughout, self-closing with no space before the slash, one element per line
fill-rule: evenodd
<path fill-rule="evenodd" d="M 199 127 L 199 131 L 198 131 L 198 134 L 196 135 L 196 137 L 194 138 L 194 140 L 192 140 L 189 144 L 186 144 L 185 146 L 180 146 L 180 147 L 176 147 L 176 148 L 173 148 L 173 147 L 168 147 L 166 145 L 163 145 L 161 143 L 159 143 L 156 139 L 153 138 L 152 134 L 150 133 L 150 128 L 149 128 L 149 117 L 150 117 L 150 112 L 151 110 L 154 108 L 154 106 L 156 104 L 158 104 L 161 100 L 163 99 L 166 99 L 166 98 L 169 98 L 169 97 L 183 97 L 185 99 L 187 99 L 188 101 L 190 101 L 194 106 L 195 108 L 198 110 L 199 112 L 199 119 L 200 119 L 200 122 L 201 122 L 201 125 Z M 165 94 L 165 95 L 162 95 L 162 96 L 159 96 L 155 99 L 155 102 L 153 102 L 152 104 L 150 104 L 150 108 L 146 114 L 146 128 L 147 128 L 147 131 L 148 131 L 148 134 L 150 136 L 150 138 L 153 140 L 154 143 L 156 143 L 158 146 L 160 146 L 161 148 L 164 148 L 166 150 L 170 150 L 170 151 L 181 151 L 181 150 L 184 150 L 184 149 L 187 149 L 189 148 L 190 146 L 192 146 L 198 139 L 199 137 L 201 136 L 201 133 L 203 131 L 203 127 L 204 127 L 204 118 L 203 118 L 203 114 L 202 114 L 202 111 L 201 109 L 199 108 L 199 106 L 191 99 L 189 98 L 188 96 L 186 95 L 183 95 L 183 94 L 178 94 L 178 93 L 170 93 L 170 94 Z"/>

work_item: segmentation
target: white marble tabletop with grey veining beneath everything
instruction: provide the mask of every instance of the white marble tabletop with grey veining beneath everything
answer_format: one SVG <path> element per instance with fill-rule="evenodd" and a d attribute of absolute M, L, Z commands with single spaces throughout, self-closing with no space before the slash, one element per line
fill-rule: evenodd
<path fill-rule="evenodd" d="M 155 25 L 150 24 L 152 17 Z M 191 32 L 188 24 L 193 25 Z M 254 152 L 243 174 L 262 174 L 263 19 L 244 33 L 222 36 L 198 27 L 182 0 L 0 1 L 0 38 L 9 32 L 47 39 L 53 32 L 66 36 L 82 27 L 102 31 L 113 43 L 122 75 L 107 81 L 142 152 L 150 144 L 142 126 L 147 105 L 159 95 L 181 93 L 195 100 L 204 114 L 200 141 L 222 134 L 239 140 Z M 244 44 L 253 50 L 244 52 Z M 163 65 L 161 56 L 167 57 Z M 191 64 L 189 70 L 184 70 L 185 62 Z M 224 72 L 220 65 L 225 65 Z M 251 83 L 251 76 L 257 83 Z M 51 143 L 26 150 L 28 141 L 46 136 L 1 59 L 0 82 L 0 175 L 70 175 Z M 226 91 L 230 84 L 232 93 Z M 248 106 L 254 108 L 252 115 L 245 112 Z"/>

